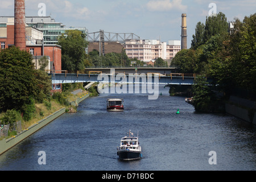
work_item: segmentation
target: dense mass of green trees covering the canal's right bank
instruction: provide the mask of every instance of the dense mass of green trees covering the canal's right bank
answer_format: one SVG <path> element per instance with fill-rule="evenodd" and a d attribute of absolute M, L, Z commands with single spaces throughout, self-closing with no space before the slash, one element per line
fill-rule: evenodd
<path fill-rule="evenodd" d="M 192 88 L 197 111 L 216 111 L 231 94 L 255 101 L 256 94 L 256 14 L 234 19 L 229 28 L 226 16 L 218 13 L 197 23 L 191 48 L 183 49 L 172 60 L 181 73 L 196 73 Z M 211 78 L 211 85 L 205 82 Z M 204 79 L 204 80 L 203 80 Z M 216 94 L 222 95 L 216 99 Z M 216 102 L 218 102 L 216 104 Z M 218 110 L 218 109 L 217 109 Z"/>

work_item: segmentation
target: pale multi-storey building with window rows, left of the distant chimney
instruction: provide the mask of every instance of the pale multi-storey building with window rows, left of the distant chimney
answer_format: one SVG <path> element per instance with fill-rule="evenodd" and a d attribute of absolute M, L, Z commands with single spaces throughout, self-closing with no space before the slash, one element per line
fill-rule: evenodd
<path fill-rule="evenodd" d="M 140 40 L 138 42 L 130 41 L 123 44 L 129 59 L 149 62 L 161 57 L 163 60 L 172 60 L 177 52 L 181 50 L 180 40 L 170 40 L 160 42 L 159 40 Z"/>

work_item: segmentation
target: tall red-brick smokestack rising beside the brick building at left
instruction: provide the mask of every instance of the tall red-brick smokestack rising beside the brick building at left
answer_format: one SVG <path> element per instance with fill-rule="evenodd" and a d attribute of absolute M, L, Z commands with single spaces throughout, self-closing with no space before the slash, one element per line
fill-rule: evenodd
<path fill-rule="evenodd" d="M 25 0 L 14 1 L 14 45 L 26 50 Z"/>

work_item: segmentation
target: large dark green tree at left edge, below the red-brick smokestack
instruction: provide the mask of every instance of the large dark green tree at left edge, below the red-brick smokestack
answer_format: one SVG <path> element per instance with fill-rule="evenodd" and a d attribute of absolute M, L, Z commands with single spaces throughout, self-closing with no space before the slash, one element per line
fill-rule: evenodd
<path fill-rule="evenodd" d="M 10 47 L 0 52 L 0 108 L 20 110 L 35 90 L 32 55 Z"/>

